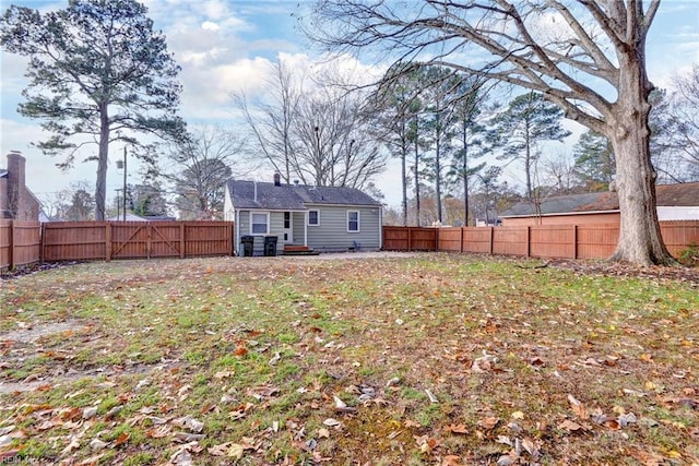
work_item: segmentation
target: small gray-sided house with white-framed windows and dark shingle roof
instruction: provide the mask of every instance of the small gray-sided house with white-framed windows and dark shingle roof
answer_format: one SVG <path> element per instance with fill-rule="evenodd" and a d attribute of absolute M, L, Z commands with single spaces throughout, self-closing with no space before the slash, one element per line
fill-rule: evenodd
<path fill-rule="evenodd" d="M 228 180 L 224 218 L 235 222 L 240 254 L 250 238 L 254 255 L 268 252 L 265 241 L 274 238 L 275 253 L 379 250 L 382 243 L 381 203 L 354 188 L 282 183 L 279 174 L 274 182 Z"/>

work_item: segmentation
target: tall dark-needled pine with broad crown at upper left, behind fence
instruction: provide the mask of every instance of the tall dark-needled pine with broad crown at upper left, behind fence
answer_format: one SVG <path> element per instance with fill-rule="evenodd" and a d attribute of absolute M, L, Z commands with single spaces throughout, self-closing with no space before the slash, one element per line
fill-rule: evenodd
<path fill-rule="evenodd" d="M 31 59 L 19 112 L 43 120 L 52 134 L 36 145 L 66 155 L 58 164 L 66 169 L 81 147 L 98 146 L 87 158 L 97 162 L 97 220 L 105 217 L 110 143 L 138 145 L 134 132 L 185 134 L 176 115 L 179 67 L 146 13 L 134 0 L 71 0 L 66 10 L 45 14 L 12 5 L 0 20 L 0 46 Z"/>

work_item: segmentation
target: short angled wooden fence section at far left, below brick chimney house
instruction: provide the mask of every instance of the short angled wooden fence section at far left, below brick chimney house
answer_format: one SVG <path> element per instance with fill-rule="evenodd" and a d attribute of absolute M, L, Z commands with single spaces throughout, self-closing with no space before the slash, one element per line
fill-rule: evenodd
<path fill-rule="evenodd" d="M 0 220 L 0 270 L 40 261 L 42 224 Z"/>

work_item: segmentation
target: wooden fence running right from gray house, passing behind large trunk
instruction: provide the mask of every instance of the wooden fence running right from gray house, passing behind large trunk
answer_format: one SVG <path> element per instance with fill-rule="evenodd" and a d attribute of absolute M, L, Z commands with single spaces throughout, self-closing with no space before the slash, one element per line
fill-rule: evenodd
<path fill-rule="evenodd" d="M 699 244 L 699 220 L 661 222 L 663 240 L 677 258 Z M 619 238 L 618 224 L 517 227 L 383 227 L 383 249 L 453 251 L 550 259 L 605 259 Z"/>

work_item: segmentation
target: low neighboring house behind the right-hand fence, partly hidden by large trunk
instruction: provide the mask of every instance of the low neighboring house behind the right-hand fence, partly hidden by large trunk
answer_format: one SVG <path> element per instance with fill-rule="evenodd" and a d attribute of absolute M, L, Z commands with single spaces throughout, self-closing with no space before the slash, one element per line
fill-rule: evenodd
<path fill-rule="evenodd" d="M 699 182 L 655 187 L 657 218 L 699 220 Z M 503 226 L 606 224 L 619 222 L 616 192 L 558 195 L 538 202 L 523 201 L 500 214 Z"/>

